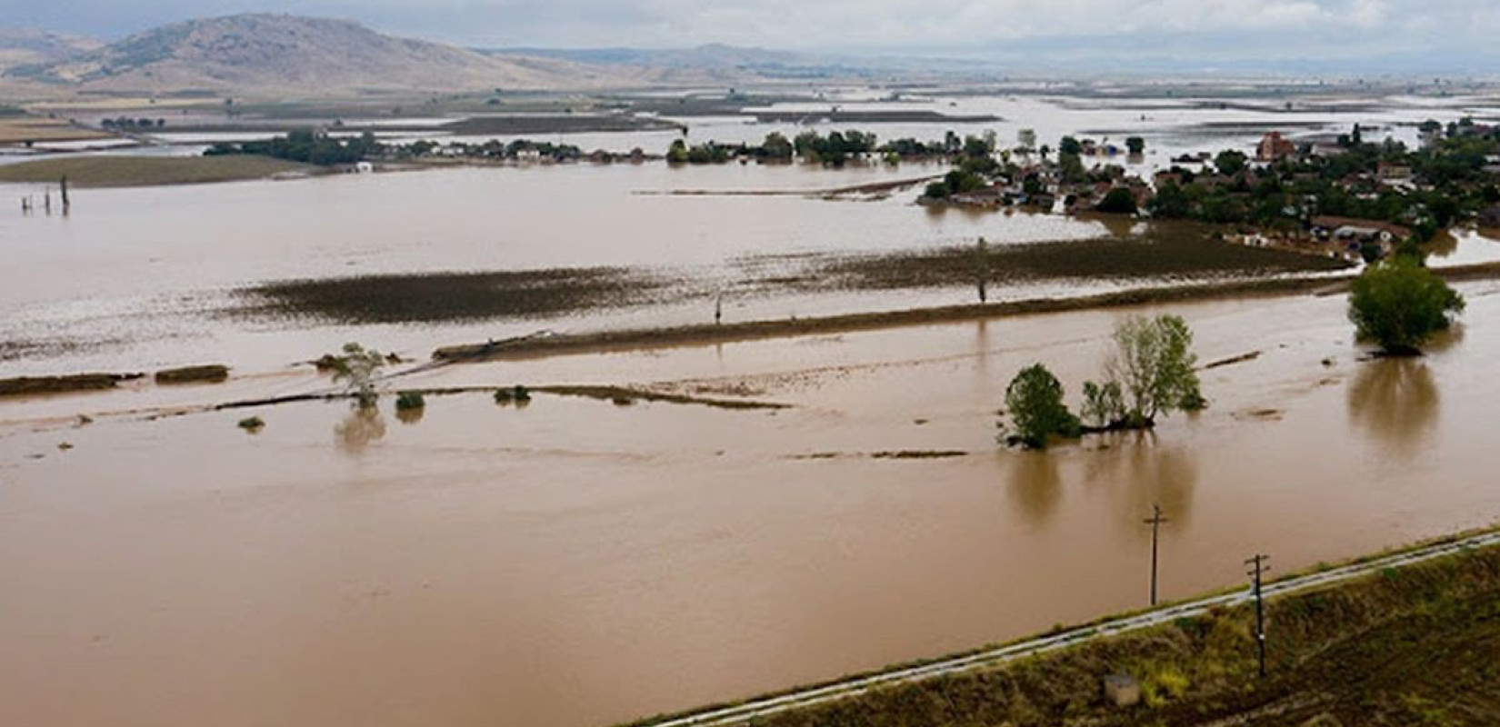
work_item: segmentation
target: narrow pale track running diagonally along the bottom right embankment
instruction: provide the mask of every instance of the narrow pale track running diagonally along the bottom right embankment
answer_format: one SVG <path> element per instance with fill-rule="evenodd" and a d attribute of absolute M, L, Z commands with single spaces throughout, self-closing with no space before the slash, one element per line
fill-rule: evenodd
<path fill-rule="evenodd" d="M 1299 591 L 1324 588 L 1344 580 L 1358 579 L 1360 576 L 1368 576 L 1382 571 L 1384 568 L 1401 568 L 1406 565 L 1431 561 L 1434 558 L 1455 555 L 1464 550 L 1476 550 L 1494 546 L 1500 546 L 1500 532 L 1485 532 L 1480 535 L 1472 535 L 1467 538 L 1458 538 L 1446 543 L 1418 547 L 1413 550 L 1406 550 L 1401 553 L 1376 558 L 1359 564 L 1342 565 L 1320 573 L 1311 573 L 1306 576 L 1278 580 L 1275 583 L 1266 583 L 1262 586 L 1262 594 L 1266 598 L 1282 597 Z M 1167 606 L 1164 609 L 1156 609 L 1134 616 L 1104 621 L 1089 627 L 1078 627 L 1074 630 L 1062 631 L 1041 639 L 1018 642 L 1010 646 L 999 646 L 994 649 L 987 649 L 964 657 L 945 658 L 915 667 L 892 669 L 890 672 L 852 678 L 842 682 L 792 691 L 776 697 L 754 699 L 734 706 L 706 709 L 702 712 L 687 714 L 682 717 L 672 717 L 648 723 L 648 727 L 714 727 L 714 726 L 744 724 L 752 720 L 770 717 L 778 712 L 806 709 L 816 705 L 837 702 L 846 697 L 855 697 L 882 687 L 914 684 L 939 676 L 950 676 L 976 669 L 994 667 L 1010 661 L 1028 657 L 1036 657 L 1068 646 L 1088 643 L 1096 639 L 1107 639 L 1130 631 L 1138 631 L 1143 628 L 1162 625 L 1180 618 L 1198 616 L 1206 613 L 1209 609 L 1240 606 L 1248 603 L 1251 598 L 1252 594 L 1250 589 L 1246 589 L 1234 594 L 1216 595 L 1216 597 L 1202 598 L 1197 601 L 1186 601 L 1174 606 Z"/>

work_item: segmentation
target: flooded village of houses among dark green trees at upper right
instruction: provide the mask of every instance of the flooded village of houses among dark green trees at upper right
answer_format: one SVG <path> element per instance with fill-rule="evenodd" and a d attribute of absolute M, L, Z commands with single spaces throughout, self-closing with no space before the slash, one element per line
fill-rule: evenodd
<path fill-rule="evenodd" d="M 922 195 L 928 205 L 1032 208 L 1066 214 L 1194 219 L 1220 235 L 1353 262 L 1426 243 L 1455 225 L 1500 228 L 1500 129 L 1470 120 L 1422 124 L 1422 147 L 1335 139 L 1293 141 L 1268 132 L 1254 156 L 1236 150 L 1180 154 L 1149 178 L 1116 160 L 1143 162 L 1143 142 L 1064 138 L 1035 153 L 1023 144 L 957 162 Z M 1024 136 L 1024 135 L 1023 135 Z"/>

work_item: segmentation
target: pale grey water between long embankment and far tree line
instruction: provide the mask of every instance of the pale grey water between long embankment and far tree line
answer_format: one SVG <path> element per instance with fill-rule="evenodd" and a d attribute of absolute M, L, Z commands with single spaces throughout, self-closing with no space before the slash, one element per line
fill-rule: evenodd
<path fill-rule="evenodd" d="M 426 357 L 441 345 L 538 328 L 700 322 L 720 289 L 728 289 L 730 321 L 958 303 L 972 292 L 765 298 L 735 286 L 747 276 L 741 261 L 754 255 L 1108 234 L 1098 222 L 1059 216 L 934 213 L 912 204 L 916 190 L 876 201 L 642 193 L 818 190 L 940 172 L 921 165 L 561 165 L 78 190 L 68 219 L 0 214 L 0 340 L 36 343 L 33 354 L 0 361 L 0 376 L 159 367 L 204 355 L 268 369 L 315 358 L 344 340 Z M 226 313 L 238 303 L 237 289 L 267 280 L 598 265 L 694 279 L 702 289 L 687 304 L 648 310 L 452 327 L 350 328 Z M 1058 289 L 1010 295 L 1048 292 Z"/>

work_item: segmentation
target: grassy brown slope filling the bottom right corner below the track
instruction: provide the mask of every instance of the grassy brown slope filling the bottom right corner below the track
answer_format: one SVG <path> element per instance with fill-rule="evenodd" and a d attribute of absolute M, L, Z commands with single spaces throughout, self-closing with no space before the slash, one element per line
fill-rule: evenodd
<path fill-rule="evenodd" d="M 758 727 L 1479 726 L 1500 714 L 1500 549 L 1268 601 L 1257 678 L 1251 607 L 1004 667 L 874 690 Z M 1101 679 L 1143 703 L 1104 703 Z"/>

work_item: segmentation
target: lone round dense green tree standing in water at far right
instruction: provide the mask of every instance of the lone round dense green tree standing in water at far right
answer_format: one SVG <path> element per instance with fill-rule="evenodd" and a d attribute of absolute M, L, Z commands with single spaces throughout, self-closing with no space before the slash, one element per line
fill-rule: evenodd
<path fill-rule="evenodd" d="M 1464 298 L 1420 261 L 1398 255 L 1365 268 L 1348 292 L 1354 336 L 1388 355 L 1418 355 L 1434 333 L 1448 330 Z"/>

